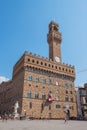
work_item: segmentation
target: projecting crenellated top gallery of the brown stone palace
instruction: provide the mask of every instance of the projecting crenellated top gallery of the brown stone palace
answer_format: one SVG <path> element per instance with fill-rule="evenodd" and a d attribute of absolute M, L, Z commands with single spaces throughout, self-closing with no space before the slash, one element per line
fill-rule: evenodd
<path fill-rule="evenodd" d="M 37 69 L 42 69 L 45 71 L 51 71 L 53 73 L 59 73 L 62 75 L 68 75 L 75 78 L 74 66 L 55 62 L 51 59 L 41 57 L 40 55 L 32 54 L 31 52 L 24 52 L 23 56 L 15 64 L 13 69 L 13 75 L 15 75 L 19 70 L 23 69 L 25 66 L 34 67 Z"/>

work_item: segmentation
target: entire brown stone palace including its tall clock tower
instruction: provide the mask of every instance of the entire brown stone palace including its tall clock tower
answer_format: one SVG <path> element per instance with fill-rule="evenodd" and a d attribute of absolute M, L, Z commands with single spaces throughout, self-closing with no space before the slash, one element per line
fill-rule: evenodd
<path fill-rule="evenodd" d="M 61 57 L 61 39 L 58 25 L 49 24 L 48 33 L 49 59 L 25 52 L 13 68 L 12 80 L 3 89 L 8 100 L 0 111 L 13 112 L 16 101 L 18 112 L 34 118 L 64 118 L 64 110 L 70 116 L 77 116 L 76 93 L 74 89 L 75 69 L 63 64 Z M 51 95 L 51 102 L 48 100 Z M 2 104 L 2 106 L 4 106 Z"/>

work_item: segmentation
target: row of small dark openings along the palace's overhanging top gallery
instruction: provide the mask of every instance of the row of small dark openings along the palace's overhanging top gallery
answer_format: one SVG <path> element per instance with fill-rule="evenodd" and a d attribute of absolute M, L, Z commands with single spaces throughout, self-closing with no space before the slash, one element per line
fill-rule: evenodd
<path fill-rule="evenodd" d="M 48 63 L 44 63 L 42 61 L 41 62 L 35 61 L 34 59 L 31 60 L 30 58 L 28 58 L 28 62 L 32 62 L 32 63 L 36 63 L 36 64 L 39 64 L 39 65 L 47 66 L 47 67 L 50 67 L 50 68 L 66 71 L 66 72 L 69 72 L 69 73 L 74 73 L 74 71 L 71 70 L 71 69 L 54 66 L 54 65 L 51 65 L 51 64 L 48 64 Z"/>

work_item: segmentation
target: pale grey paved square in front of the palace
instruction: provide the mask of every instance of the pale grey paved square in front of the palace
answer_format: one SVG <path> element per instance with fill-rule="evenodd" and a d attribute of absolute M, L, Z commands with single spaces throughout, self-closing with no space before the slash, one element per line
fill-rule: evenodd
<path fill-rule="evenodd" d="M 87 130 L 87 121 L 8 120 L 0 121 L 0 130 Z"/>

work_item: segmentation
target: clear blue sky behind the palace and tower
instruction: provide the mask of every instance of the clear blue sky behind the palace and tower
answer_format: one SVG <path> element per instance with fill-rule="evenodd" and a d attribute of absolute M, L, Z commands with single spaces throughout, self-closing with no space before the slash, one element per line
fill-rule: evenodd
<path fill-rule="evenodd" d="M 48 57 L 48 24 L 62 33 L 62 61 L 75 66 L 75 86 L 87 82 L 87 0 L 0 0 L 0 77 L 12 78 L 24 51 Z"/>

